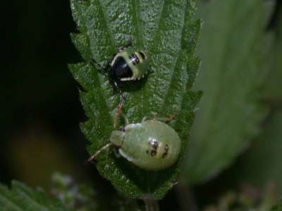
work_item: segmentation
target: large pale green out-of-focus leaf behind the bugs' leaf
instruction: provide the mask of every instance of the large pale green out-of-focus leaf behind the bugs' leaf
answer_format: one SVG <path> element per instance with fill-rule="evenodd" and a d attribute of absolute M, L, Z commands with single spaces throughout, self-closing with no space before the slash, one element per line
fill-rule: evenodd
<path fill-rule="evenodd" d="M 204 17 L 195 89 L 204 91 L 188 148 L 191 184 L 214 177 L 257 135 L 266 114 L 259 100 L 271 36 L 266 23 L 273 4 L 263 0 L 200 1 Z"/>

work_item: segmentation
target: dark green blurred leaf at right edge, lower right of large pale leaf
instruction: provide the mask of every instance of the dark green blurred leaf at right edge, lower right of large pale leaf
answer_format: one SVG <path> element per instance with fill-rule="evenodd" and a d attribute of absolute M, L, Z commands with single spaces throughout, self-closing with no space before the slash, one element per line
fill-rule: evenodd
<path fill-rule="evenodd" d="M 282 112 L 275 113 L 269 120 L 262 135 L 255 140 L 245 155 L 238 160 L 229 173 L 238 181 L 245 181 L 257 187 L 264 188 L 270 182 L 276 185 L 282 195 Z"/>

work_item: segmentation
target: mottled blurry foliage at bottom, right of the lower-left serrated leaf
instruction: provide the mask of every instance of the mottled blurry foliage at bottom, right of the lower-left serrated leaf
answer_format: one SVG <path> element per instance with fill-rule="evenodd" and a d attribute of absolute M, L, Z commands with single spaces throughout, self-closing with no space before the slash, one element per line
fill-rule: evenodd
<path fill-rule="evenodd" d="M 56 173 L 53 175 L 51 192 L 59 198 L 68 210 L 75 211 L 134 211 L 136 200 L 125 198 L 117 193 L 106 193 L 94 190 L 93 184 L 76 184 L 68 175 Z"/>

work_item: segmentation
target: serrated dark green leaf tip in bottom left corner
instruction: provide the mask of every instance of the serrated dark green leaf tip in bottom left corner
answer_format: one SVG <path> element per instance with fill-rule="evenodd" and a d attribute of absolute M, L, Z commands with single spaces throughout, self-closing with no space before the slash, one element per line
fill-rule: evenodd
<path fill-rule="evenodd" d="M 12 181 L 11 190 L 0 184 L 0 210 L 66 210 L 59 200 L 49 198 L 42 189 L 32 190 L 18 181 Z"/>

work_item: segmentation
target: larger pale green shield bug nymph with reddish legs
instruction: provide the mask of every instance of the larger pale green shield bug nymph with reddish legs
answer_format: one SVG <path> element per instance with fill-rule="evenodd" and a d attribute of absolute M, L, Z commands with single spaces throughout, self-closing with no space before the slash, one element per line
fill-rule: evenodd
<path fill-rule="evenodd" d="M 178 160 L 180 138 L 168 124 L 154 118 L 141 123 L 127 124 L 115 129 L 110 136 L 110 143 L 92 155 L 93 160 L 105 148 L 114 145 L 128 161 L 144 170 L 163 170 L 171 167 Z M 171 119 L 166 119 L 171 120 Z"/>

